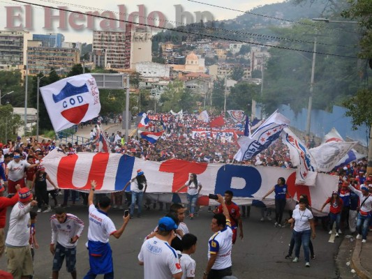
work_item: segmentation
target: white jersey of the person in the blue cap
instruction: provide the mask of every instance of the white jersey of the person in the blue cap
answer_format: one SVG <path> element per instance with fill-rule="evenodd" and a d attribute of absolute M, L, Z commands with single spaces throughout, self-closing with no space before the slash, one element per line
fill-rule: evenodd
<path fill-rule="evenodd" d="M 144 263 L 144 279 L 171 279 L 182 271 L 176 250 L 156 236 L 144 241 L 138 260 Z"/>

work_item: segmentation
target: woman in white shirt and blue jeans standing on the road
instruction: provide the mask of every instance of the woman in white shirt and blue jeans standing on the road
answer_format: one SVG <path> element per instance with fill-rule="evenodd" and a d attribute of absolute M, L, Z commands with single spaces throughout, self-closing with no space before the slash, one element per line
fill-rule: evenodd
<path fill-rule="evenodd" d="M 295 209 L 292 214 L 292 218 L 288 220 L 288 223 L 295 223 L 293 229 L 293 236 L 295 238 L 295 259 L 292 262 L 299 261 L 299 248 L 301 244 L 304 247 L 305 255 L 305 266 L 310 267 L 310 257 L 308 243 L 310 242 L 310 236 L 315 239 L 315 225 L 313 222 L 313 213 L 306 208 L 306 199 L 299 199 L 299 207 Z"/>

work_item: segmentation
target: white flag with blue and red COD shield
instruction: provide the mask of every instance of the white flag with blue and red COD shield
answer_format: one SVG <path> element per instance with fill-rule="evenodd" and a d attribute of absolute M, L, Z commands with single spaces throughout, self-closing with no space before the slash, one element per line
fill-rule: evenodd
<path fill-rule="evenodd" d="M 67 77 L 40 91 L 56 132 L 94 119 L 101 111 L 98 87 L 91 74 Z"/>

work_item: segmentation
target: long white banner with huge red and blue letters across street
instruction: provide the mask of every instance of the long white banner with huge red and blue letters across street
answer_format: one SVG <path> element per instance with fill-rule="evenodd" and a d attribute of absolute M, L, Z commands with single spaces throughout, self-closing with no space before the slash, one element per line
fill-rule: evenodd
<path fill-rule="evenodd" d="M 166 160 L 158 163 L 141 160 L 118 153 L 77 153 L 66 156 L 54 149 L 44 159 L 47 174 L 59 188 L 89 190 L 90 181 L 96 180 L 98 192 L 122 190 L 125 184 L 142 169 L 148 181 L 147 193 L 161 194 L 157 199 L 172 200 L 172 193 L 183 186 L 191 173 L 198 175 L 202 183 L 200 204 L 209 204 L 208 195 L 223 194 L 232 190 L 237 204 L 260 205 L 262 197 L 283 177 L 289 193 L 298 199 L 308 195 L 313 209 L 337 189 L 338 177 L 318 174 L 315 186 L 296 185 L 296 170 L 281 167 L 248 165 L 225 165 L 195 163 L 185 160 Z M 131 190 L 131 188 L 127 188 Z M 186 188 L 182 191 L 186 193 Z M 180 194 L 185 200 L 186 194 Z M 213 202 L 211 202 L 213 203 Z M 265 199 L 265 204 L 274 204 L 274 193 Z"/>

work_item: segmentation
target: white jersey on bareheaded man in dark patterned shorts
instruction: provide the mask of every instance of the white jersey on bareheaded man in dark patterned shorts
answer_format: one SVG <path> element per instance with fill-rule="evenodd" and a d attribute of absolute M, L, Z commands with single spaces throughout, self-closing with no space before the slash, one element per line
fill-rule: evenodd
<path fill-rule="evenodd" d="M 50 217 L 50 226 L 52 227 L 52 241 L 51 244 L 59 243 L 65 248 L 73 248 L 77 246 L 75 243 L 70 243 L 70 238 L 74 236 L 81 236 L 84 229 L 84 223 L 73 214 L 66 213 L 66 220 L 64 223 L 59 223 L 56 215 Z"/>

